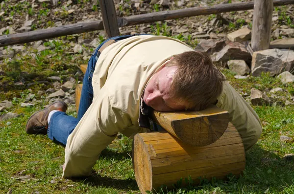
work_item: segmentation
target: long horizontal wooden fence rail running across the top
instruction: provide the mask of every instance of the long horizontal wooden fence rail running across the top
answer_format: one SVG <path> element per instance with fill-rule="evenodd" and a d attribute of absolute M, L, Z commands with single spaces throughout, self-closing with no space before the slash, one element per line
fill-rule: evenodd
<path fill-rule="evenodd" d="M 294 4 L 294 0 L 274 0 L 274 6 L 281 6 L 287 4 Z M 230 11 L 241 11 L 253 9 L 254 2 L 241 2 L 219 4 L 211 7 L 192 7 L 187 9 L 169 10 L 162 12 L 154 12 L 148 14 L 141 14 L 129 16 L 125 18 L 118 18 L 119 27 L 137 25 L 142 23 L 157 22 L 163 20 L 180 19 L 185 17 L 219 14 Z M 31 32 L 9 34 L 0 36 L 0 46 L 7 46 L 12 44 L 29 43 L 33 41 L 45 40 L 60 36 L 79 34 L 95 30 L 102 30 L 103 22 L 80 22 L 60 27 L 52 27 L 47 29 L 35 30 Z"/>

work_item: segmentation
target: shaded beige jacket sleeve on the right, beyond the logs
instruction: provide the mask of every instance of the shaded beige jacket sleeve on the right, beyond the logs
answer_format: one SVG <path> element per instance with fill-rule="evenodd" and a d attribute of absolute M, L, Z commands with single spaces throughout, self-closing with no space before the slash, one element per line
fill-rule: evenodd
<path fill-rule="evenodd" d="M 256 112 L 243 97 L 228 83 L 224 82 L 217 107 L 229 112 L 230 122 L 240 133 L 245 151 L 251 148 L 259 139 L 262 127 Z"/>

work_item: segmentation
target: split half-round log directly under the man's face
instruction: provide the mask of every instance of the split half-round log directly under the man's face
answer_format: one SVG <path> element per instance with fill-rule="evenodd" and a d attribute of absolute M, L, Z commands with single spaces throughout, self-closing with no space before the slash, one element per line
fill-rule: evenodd
<path fill-rule="evenodd" d="M 214 105 L 200 111 L 153 111 L 151 119 L 184 143 L 206 146 L 217 141 L 228 127 L 229 112 Z"/>

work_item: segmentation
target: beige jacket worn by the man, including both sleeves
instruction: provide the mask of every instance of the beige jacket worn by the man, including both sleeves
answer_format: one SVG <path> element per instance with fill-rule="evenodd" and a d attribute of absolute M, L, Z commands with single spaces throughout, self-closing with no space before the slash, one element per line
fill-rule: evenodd
<path fill-rule="evenodd" d="M 67 140 L 63 177 L 89 175 L 118 132 L 131 138 L 147 132 L 139 128 L 138 120 L 148 80 L 173 55 L 193 50 L 176 39 L 151 35 L 134 36 L 105 48 L 93 74 L 93 103 Z M 249 148 L 260 136 L 259 118 L 227 83 L 223 91 L 217 106 L 230 112 L 231 122 Z"/>

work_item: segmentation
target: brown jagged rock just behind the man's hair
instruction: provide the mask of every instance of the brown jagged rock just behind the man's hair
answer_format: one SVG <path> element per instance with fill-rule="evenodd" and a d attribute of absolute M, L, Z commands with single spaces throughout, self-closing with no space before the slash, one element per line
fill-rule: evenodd
<path fill-rule="evenodd" d="M 211 58 L 214 62 L 227 62 L 229 60 L 244 60 L 250 63 L 251 54 L 247 51 L 245 45 L 241 43 L 226 42 L 227 45 L 221 51 L 214 53 Z"/>

